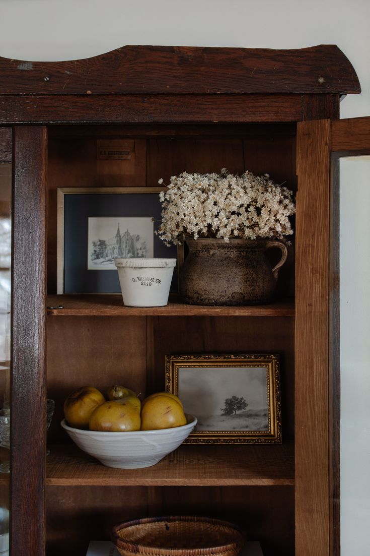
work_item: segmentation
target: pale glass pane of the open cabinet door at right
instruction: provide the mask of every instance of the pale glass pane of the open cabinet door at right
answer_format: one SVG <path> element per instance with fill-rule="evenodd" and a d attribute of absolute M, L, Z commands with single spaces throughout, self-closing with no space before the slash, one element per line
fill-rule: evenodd
<path fill-rule="evenodd" d="M 370 545 L 370 155 L 340 171 L 341 555 Z"/>

